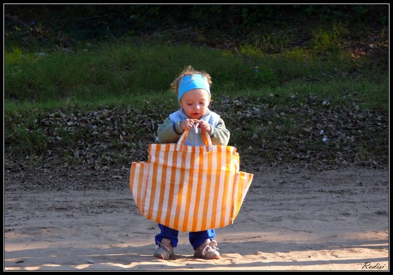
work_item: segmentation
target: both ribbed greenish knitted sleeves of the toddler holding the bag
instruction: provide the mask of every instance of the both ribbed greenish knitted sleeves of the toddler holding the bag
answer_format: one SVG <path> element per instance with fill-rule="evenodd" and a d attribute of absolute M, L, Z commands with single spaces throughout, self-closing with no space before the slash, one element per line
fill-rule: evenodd
<path fill-rule="evenodd" d="M 210 125 L 212 130 L 209 132 L 213 145 L 227 145 L 229 142 L 230 133 L 225 128 L 224 121 L 220 118 L 216 127 Z M 169 117 L 164 121 L 164 124 L 158 126 L 157 135 L 160 143 L 174 143 L 183 134 L 178 123 L 172 123 Z"/>

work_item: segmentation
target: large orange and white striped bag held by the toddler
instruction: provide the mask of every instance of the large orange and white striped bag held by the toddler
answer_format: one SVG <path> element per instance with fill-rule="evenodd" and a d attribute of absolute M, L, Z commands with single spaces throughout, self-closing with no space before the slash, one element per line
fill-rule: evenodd
<path fill-rule="evenodd" d="M 130 189 L 141 215 L 170 228 L 195 232 L 232 224 L 253 174 L 239 171 L 235 147 L 150 144 L 148 162 L 133 162 Z"/>

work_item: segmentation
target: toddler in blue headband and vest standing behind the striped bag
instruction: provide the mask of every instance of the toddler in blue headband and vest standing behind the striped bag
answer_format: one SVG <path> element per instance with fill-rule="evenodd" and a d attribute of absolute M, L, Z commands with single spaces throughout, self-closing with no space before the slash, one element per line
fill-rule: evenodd
<path fill-rule="evenodd" d="M 209 74 L 195 71 L 191 66 L 171 83 L 170 86 L 177 93 L 181 109 L 171 113 L 164 124 L 158 127 L 160 143 L 177 142 L 185 130 L 193 129 L 188 133 L 185 145 L 204 145 L 202 131 L 209 133 L 213 145 L 228 144 L 229 131 L 226 130 L 224 121 L 220 115 L 208 109 L 211 84 Z M 198 119 L 200 122 L 196 125 L 193 119 Z M 200 131 L 195 131 L 196 127 Z M 177 246 L 178 231 L 163 224 L 158 226 L 161 233 L 155 237 L 156 249 L 153 255 L 168 260 L 174 254 L 173 247 Z M 213 240 L 215 236 L 214 229 L 190 232 L 189 240 L 195 250 L 194 256 L 202 259 L 219 259 L 217 242 Z"/>

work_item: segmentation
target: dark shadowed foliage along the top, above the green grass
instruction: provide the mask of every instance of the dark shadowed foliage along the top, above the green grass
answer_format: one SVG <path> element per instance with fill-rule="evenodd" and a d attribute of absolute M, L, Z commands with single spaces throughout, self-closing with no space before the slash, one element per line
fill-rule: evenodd
<path fill-rule="evenodd" d="M 4 5 L 5 28 L 15 17 L 29 27 L 69 39 L 139 35 L 162 28 L 208 28 L 240 35 L 256 28 L 332 21 L 385 25 L 388 5 Z"/>

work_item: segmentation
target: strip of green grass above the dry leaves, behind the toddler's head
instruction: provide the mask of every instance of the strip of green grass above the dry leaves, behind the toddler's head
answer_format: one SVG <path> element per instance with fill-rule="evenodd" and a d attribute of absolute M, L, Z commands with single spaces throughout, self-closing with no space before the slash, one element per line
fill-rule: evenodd
<path fill-rule="evenodd" d="M 344 52 L 326 56 L 309 49 L 261 56 L 254 48 L 228 52 L 125 41 L 76 53 L 34 55 L 13 49 L 5 51 L 5 109 L 51 109 L 69 104 L 91 108 L 138 103 L 146 97 L 170 98 L 169 84 L 189 64 L 210 73 L 213 99 L 222 94 L 272 93 L 282 99 L 314 94 L 340 104 L 353 99 L 362 108 L 388 108 L 387 72 L 377 66 L 370 68 L 367 57 L 359 61 Z M 257 74 L 253 72 L 256 65 Z"/>

